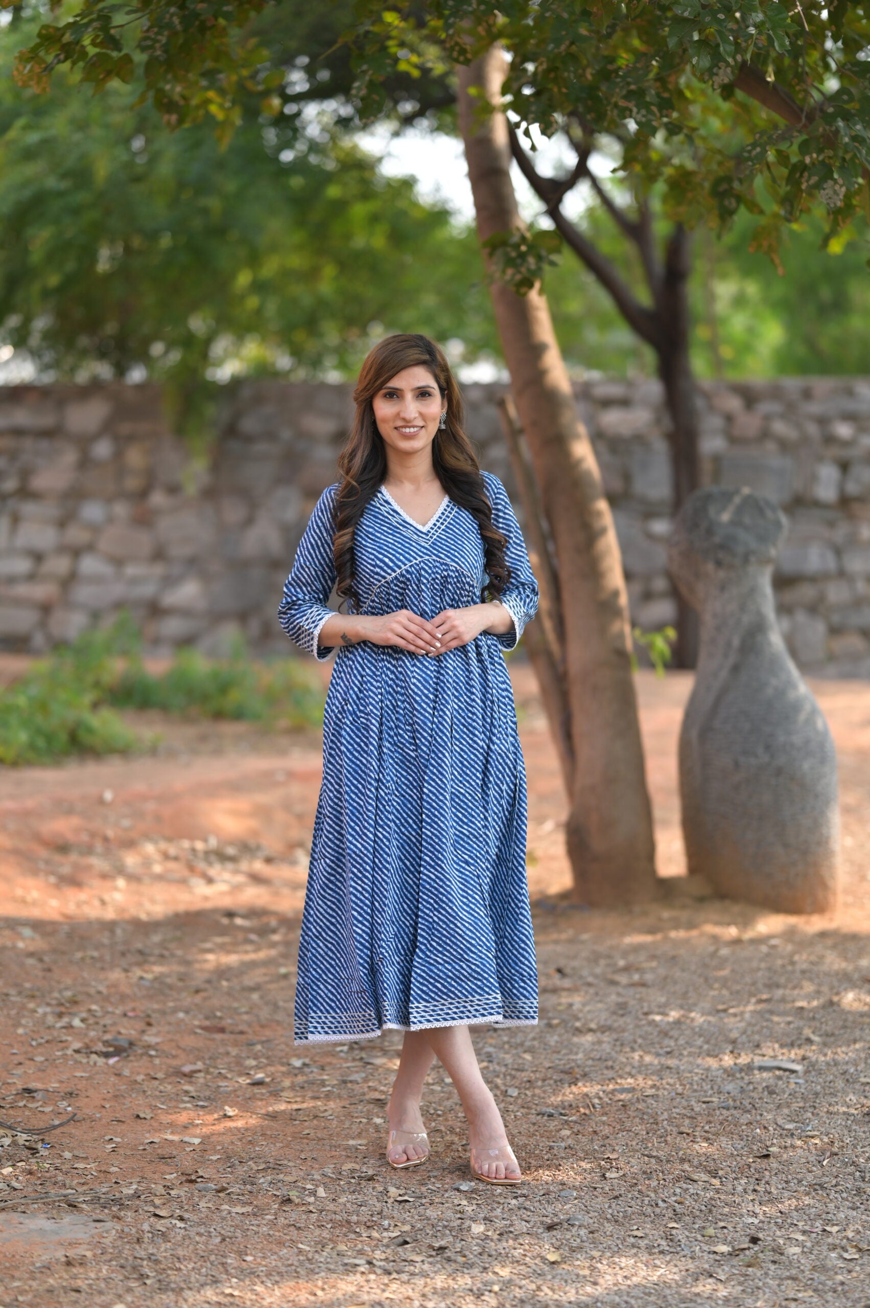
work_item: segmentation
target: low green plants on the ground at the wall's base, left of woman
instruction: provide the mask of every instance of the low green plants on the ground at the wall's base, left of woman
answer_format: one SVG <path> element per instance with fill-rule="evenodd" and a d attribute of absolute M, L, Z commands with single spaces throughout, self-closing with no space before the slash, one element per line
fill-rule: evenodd
<path fill-rule="evenodd" d="M 243 644 L 222 661 L 178 650 L 149 672 L 128 615 L 85 632 L 0 691 L 0 764 L 22 766 L 77 753 L 124 753 L 147 742 L 115 709 L 161 709 L 183 717 L 234 718 L 280 727 L 323 721 L 323 688 L 293 659 L 258 663 Z"/>

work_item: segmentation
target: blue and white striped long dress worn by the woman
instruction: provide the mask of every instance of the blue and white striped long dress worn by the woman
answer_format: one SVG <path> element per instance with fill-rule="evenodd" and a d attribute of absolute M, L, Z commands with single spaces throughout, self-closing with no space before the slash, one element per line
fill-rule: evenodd
<path fill-rule="evenodd" d="M 538 1020 L 526 883 L 526 772 L 502 649 L 538 608 L 504 485 L 483 473 L 508 538 L 506 636 L 426 657 L 362 641 L 338 650 L 323 723 L 323 782 L 296 989 L 297 1044 L 385 1028 Z M 279 619 L 318 659 L 332 565 L 334 500 L 318 500 Z M 362 613 L 432 619 L 480 602 L 475 518 L 447 496 L 425 526 L 385 487 L 355 534 Z"/>

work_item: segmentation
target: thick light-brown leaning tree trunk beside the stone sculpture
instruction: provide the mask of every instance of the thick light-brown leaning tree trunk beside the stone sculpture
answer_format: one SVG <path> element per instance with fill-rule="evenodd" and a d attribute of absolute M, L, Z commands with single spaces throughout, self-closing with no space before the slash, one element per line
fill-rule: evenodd
<path fill-rule="evenodd" d="M 505 72 L 497 46 L 458 69 L 481 242 L 521 225 L 508 122 L 498 109 Z M 483 89 L 491 112 L 478 112 L 472 88 Z M 569 721 L 552 725 L 556 740 L 565 736 L 570 748 L 566 835 L 576 893 L 586 904 L 625 904 L 653 893 L 655 867 L 619 544 L 544 296 L 538 289 L 518 296 L 497 277 L 491 290 L 559 565 L 564 647 L 557 654 Z"/>

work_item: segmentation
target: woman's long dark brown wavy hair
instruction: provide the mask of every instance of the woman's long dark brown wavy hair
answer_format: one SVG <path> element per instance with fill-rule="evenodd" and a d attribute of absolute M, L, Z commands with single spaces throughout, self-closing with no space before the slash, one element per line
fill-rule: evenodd
<path fill-rule="evenodd" d="M 374 421 L 373 398 L 406 368 L 421 366 L 432 373 L 441 399 L 447 400 L 447 420 L 438 428 L 432 442 L 432 463 L 446 494 L 467 509 L 480 527 L 484 547 L 488 585 L 481 598 L 489 593 L 498 598 L 510 579 L 505 562 L 506 536 L 492 525 L 492 506 L 480 475 L 471 442 L 462 429 L 464 409 L 462 395 L 444 352 L 428 336 L 400 332 L 378 341 L 365 357 L 353 402 L 353 426 L 339 455 L 341 485 L 335 500 L 335 560 L 336 590 L 355 610 L 362 604 L 355 586 L 353 535 L 365 506 L 377 494 L 387 473 L 383 437 Z"/>

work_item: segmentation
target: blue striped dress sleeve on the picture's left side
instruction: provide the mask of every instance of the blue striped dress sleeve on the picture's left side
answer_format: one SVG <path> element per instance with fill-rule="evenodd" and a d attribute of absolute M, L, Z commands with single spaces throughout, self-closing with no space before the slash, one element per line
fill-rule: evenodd
<path fill-rule="evenodd" d="M 323 624 L 335 616 L 326 602 L 335 586 L 332 538 L 336 490 L 338 483 L 327 487 L 314 505 L 277 611 L 279 623 L 290 640 L 321 661 L 327 659 L 335 649 L 334 645 L 318 649 L 317 642 Z"/>

